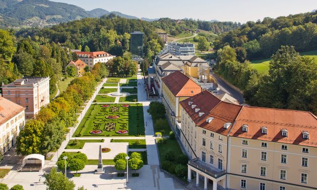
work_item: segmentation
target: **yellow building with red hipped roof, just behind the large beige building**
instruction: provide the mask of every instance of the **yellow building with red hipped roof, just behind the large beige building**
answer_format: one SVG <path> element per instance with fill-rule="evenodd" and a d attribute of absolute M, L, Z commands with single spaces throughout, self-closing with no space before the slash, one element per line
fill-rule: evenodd
<path fill-rule="evenodd" d="M 182 72 L 175 71 L 164 77 L 162 85 L 162 103 L 166 109 L 169 121 L 176 134 L 180 130 L 180 104 L 195 94 L 201 92 L 201 87 Z"/>

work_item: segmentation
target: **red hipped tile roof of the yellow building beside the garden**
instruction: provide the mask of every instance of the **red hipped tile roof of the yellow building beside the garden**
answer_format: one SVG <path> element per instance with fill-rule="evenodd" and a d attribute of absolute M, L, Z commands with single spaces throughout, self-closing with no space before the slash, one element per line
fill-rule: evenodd
<path fill-rule="evenodd" d="M 191 97 L 201 92 L 201 87 L 180 71 L 175 71 L 162 79 L 175 97 Z"/>

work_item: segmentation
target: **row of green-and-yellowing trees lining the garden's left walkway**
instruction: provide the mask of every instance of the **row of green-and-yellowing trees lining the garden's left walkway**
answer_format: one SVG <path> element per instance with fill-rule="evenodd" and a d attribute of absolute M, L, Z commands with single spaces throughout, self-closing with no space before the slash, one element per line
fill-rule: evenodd
<path fill-rule="evenodd" d="M 46 155 L 58 149 L 68 127 L 77 122 L 79 106 L 92 97 L 97 82 L 107 75 L 103 64 L 97 63 L 91 73 L 72 80 L 59 98 L 42 108 L 35 119 L 26 122 L 17 138 L 17 152 Z"/>

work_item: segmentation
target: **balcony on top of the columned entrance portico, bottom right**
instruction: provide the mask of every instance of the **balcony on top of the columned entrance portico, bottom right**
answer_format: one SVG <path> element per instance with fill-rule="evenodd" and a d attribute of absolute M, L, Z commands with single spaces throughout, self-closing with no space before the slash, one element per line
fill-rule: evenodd
<path fill-rule="evenodd" d="M 219 177 L 221 177 L 222 175 L 224 175 L 225 173 L 227 173 L 226 170 L 219 170 L 218 168 L 215 168 L 201 160 L 199 160 L 199 158 L 195 158 L 193 160 L 190 160 L 188 162 L 188 165 L 204 172 L 207 175 L 210 175 L 211 177 L 217 179 Z"/>

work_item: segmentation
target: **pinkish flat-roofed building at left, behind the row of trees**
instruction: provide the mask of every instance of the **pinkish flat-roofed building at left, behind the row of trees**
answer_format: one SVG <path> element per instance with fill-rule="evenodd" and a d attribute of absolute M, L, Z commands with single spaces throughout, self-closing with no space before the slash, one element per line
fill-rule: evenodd
<path fill-rule="evenodd" d="M 50 103 L 50 77 L 23 77 L 2 85 L 3 97 L 25 108 L 31 119 L 42 106 Z"/>

